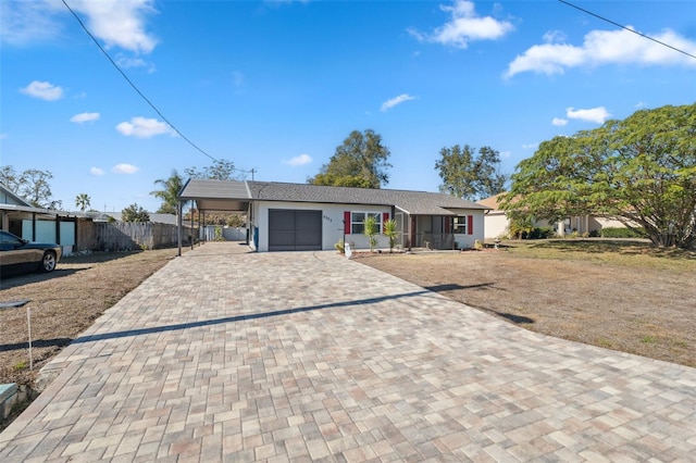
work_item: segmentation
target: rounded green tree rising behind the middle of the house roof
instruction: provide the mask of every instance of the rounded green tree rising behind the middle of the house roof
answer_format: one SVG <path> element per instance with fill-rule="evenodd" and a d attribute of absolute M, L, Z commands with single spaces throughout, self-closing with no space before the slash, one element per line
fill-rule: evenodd
<path fill-rule="evenodd" d="M 382 136 L 372 129 L 353 130 L 336 148 L 328 164 L 324 164 L 308 184 L 357 188 L 381 188 L 389 182 L 386 173 L 389 149 L 382 143 Z"/>

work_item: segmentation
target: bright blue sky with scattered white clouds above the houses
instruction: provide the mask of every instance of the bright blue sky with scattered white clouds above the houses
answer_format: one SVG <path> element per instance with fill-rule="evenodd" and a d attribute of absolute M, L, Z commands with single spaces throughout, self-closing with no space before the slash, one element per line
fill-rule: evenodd
<path fill-rule="evenodd" d="M 372 128 L 385 188 L 437 191 L 443 147 L 512 173 L 554 136 L 696 101 L 696 59 L 554 0 L 66 1 L 186 138 L 258 180 L 304 183 Z M 693 1 L 574 4 L 696 55 Z M 0 7 L 2 165 L 50 171 L 66 210 L 154 211 L 156 179 L 211 164 L 62 1 Z"/>

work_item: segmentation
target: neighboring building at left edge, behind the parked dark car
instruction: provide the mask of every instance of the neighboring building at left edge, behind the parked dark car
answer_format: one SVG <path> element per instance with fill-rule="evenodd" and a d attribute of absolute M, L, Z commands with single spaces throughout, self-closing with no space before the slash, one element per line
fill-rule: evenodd
<path fill-rule="evenodd" d="M 52 209 L 34 208 L 23 198 L 0 184 L 0 228 L 37 242 L 62 246 L 63 255 L 77 248 L 78 225 L 87 217 Z"/>

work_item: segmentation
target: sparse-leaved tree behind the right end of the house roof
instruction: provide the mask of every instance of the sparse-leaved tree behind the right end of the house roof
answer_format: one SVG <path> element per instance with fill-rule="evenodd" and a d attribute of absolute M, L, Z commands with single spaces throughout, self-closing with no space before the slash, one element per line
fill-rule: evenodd
<path fill-rule="evenodd" d="M 500 174 L 500 155 L 490 147 L 475 149 L 469 145 L 463 148 L 455 145 L 439 151 L 440 159 L 435 162 L 443 179 L 439 190 L 457 198 L 477 200 L 497 195 L 505 189 L 508 176 Z"/>

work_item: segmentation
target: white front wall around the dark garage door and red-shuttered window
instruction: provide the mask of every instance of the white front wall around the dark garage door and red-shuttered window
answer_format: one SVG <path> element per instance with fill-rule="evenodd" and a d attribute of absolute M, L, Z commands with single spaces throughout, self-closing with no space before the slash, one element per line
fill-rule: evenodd
<path fill-rule="evenodd" d="M 360 204 L 324 204 L 316 202 L 285 202 L 285 201 L 257 201 L 253 203 L 252 213 L 252 239 L 250 246 L 259 252 L 269 250 L 269 211 L 271 209 L 288 209 L 303 211 L 322 211 L 322 249 L 335 250 L 335 243 L 344 239 L 344 212 L 381 212 L 389 214 L 391 208 L 387 205 L 360 205 Z M 254 239 L 253 235 L 258 234 Z M 346 241 L 355 243 L 353 249 L 370 249 L 368 237 L 362 234 L 347 234 Z M 258 245 L 257 245 L 258 242 Z M 378 248 L 388 248 L 389 240 L 384 235 L 378 237 Z"/>

